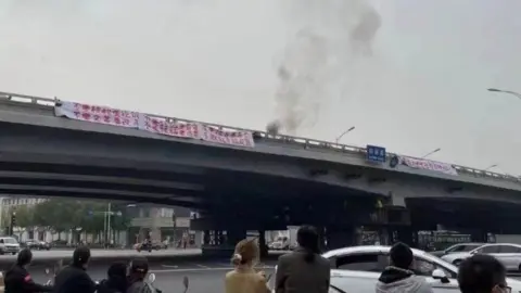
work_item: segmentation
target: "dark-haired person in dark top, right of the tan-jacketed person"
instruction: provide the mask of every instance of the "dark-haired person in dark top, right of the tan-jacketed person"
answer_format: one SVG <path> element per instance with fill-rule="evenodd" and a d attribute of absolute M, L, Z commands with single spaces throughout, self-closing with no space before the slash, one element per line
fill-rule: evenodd
<path fill-rule="evenodd" d="M 279 257 L 275 286 L 277 293 L 328 293 L 331 268 L 320 256 L 319 237 L 312 226 L 296 232 L 298 246 Z"/>

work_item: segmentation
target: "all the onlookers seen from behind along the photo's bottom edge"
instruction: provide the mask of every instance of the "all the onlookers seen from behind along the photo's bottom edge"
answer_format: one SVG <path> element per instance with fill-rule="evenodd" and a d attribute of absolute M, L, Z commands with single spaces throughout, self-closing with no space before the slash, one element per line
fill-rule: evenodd
<path fill-rule="evenodd" d="M 303 226 L 296 233 L 298 247 L 279 258 L 275 288 L 268 285 L 270 276 L 255 269 L 259 260 L 256 240 L 242 240 L 236 245 L 231 262 L 234 269 L 225 278 L 226 293 L 328 293 L 330 262 L 320 255 L 319 235 L 314 227 Z M 4 293 L 156 293 L 145 282 L 149 264 L 145 258 L 134 259 L 129 266 L 110 266 L 107 279 L 96 283 L 87 273 L 90 250 L 78 247 L 72 264 L 61 269 L 54 283 L 36 283 L 27 267 L 33 259 L 30 250 L 22 250 L 16 263 L 4 275 Z M 396 243 L 390 252 L 390 266 L 381 273 L 376 293 L 432 293 L 425 278 L 416 276 L 414 254 L 409 246 Z M 463 260 L 458 271 L 461 293 L 511 293 L 506 268 L 488 255 L 473 255 Z M 354 289 L 353 293 L 356 289 Z M 351 292 L 350 292 L 351 293 Z"/>

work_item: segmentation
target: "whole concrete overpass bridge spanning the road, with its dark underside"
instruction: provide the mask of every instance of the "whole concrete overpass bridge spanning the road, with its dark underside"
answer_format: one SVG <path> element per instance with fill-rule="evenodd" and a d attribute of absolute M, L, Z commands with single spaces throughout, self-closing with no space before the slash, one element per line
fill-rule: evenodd
<path fill-rule="evenodd" d="M 163 136 L 59 117 L 56 102 L 0 93 L 0 194 L 187 206 L 206 212 L 206 220 L 195 222 L 201 229 L 220 229 L 238 218 L 247 229 L 276 229 L 289 221 L 371 224 L 378 201 L 421 227 L 444 220 L 468 226 L 472 215 L 466 211 L 481 207 L 496 218 L 519 214 L 521 181 L 516 177 L 455 165 L 450 175 L 401 164 L 416 158 L 389 153 L 385 163 L 376 165 L 367 162 L 365 148 L 212 124 L 205 125 L 251 131 L 254 145 Z M 503 213 L 491 213 L 491 204 Z M 391 212 L 385 215 L 380 221 L 390 221 Z"/>

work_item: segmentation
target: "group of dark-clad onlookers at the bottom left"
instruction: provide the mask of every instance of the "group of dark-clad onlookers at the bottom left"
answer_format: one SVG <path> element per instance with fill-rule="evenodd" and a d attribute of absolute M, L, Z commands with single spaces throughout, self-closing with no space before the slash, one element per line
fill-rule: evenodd
<path fill-rule="evenodd" d="M 4 293 L 156 293 L 145 282 L 149 264 L 145 258 L 136 258 L 127 266 L 115 263 L 109 267 L 107 278 L 97 283 L 87 273 L 90 250 L 81 246 L 73 253 L 69 266 L 61 269 L 54 277 L 53 284 L 38 284 L 30 277 L 27 267 L 33 253 L 24 249 L 18 253 L 16 263 L 4 275 Z"/>

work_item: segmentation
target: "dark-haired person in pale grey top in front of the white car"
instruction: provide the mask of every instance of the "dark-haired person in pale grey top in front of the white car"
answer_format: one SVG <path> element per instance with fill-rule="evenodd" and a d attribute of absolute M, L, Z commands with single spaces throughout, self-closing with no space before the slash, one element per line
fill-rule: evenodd
<path fill-rule="evenodd" d="M 391 265 L 378 279 L 377 293 L 433 293 L 425 278 L 416 276 L 411 270 L 414 254 L 407 244 L 394 244 L 390 258 Z"/>

